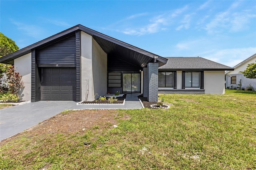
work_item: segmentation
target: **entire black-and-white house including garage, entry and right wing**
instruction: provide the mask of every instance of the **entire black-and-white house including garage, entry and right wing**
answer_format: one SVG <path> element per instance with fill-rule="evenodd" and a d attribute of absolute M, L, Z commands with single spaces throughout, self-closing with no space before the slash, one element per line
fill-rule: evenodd
<path fill-rule="evenodd" d="M 168 58 L 77 25 L 6 55 L 0 58 L 0 63 L 14 64 L 25 86 L 20 91 L 21 99 L 32 102 L 93 101 L 98 96 L 116 91 L 143 93 L 148 101 L 157 101 L 158 88 L 161 88 L 158 87 L 158 67 L 161 73 L 173 71 L 174 87 L 164 89 L 166 91 L 196 89 L 201 93 L 223 94 L 224 71 L 233 69 L 200 59 L 201 64 L 210 63 L 206 64 L 207 67 L 201 67 L 196 61 L 187 69 L 184 69 L 185 65 L 183 69 L 172 67 L 173 58 L 168 62 Z M 164 67 L 166 63 L 168 67 Z M 190 80 L 181 78 L 183 74 L 188 77 L 186 71 L 192 71 L 190 88 L 187 86 Z M 198 76 L 194 71 L 200 71 L 198 87 L 194 87 L 194 78 Z M 160 78 L 161 83 L 163 76 Z M 180 81 L 187 82 L 184 88 Z"/>

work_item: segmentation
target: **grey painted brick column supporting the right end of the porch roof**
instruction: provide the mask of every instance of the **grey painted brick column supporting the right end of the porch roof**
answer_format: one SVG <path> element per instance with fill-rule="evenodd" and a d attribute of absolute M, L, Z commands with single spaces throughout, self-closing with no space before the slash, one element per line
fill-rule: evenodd
<path fill-rule="evenodd" d="M 158 101 L 158 63 L 148 63 L 148 101 Z"/>

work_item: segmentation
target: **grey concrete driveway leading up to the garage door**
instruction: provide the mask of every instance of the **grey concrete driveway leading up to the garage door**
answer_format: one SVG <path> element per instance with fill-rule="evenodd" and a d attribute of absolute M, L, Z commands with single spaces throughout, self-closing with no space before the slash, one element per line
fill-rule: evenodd
<path fill-rule="evenodd" d="M 0 140 L 76 106 L 74 101 L 38 101 L 0 110 Z"/>

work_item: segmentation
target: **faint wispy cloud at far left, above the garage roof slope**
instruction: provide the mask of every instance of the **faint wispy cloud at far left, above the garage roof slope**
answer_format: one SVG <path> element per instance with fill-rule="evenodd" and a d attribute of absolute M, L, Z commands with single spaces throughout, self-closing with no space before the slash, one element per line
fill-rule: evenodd
<path fill-rule="evenodd" d="M 24 34 L 33 37 L 33 38 L 42 38 L 42 35 L 44 35 L 44 30 L 35 25 L 28 25 L 24 24 L 22 22 L 16 22 L 15 20 L 11 20 L 12 24 L 16 25 L 18 30 L 22 30 Z"/>

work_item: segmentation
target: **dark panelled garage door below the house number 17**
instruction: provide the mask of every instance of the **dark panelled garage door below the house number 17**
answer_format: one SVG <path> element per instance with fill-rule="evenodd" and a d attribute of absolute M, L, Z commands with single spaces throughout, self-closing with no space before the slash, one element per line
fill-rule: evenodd
<path fill-rule="evenodd" d="M 76 68 L 42 67 L 41 100 L 76 100 Z"/>

